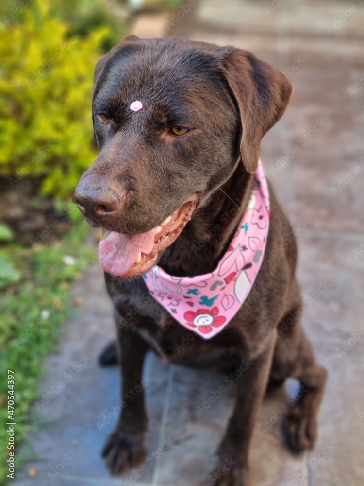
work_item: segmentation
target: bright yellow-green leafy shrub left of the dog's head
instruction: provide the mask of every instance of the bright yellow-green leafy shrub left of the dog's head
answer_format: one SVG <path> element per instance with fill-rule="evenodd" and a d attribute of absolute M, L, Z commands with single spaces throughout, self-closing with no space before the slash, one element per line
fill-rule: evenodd
<path fill-rule="evenodd" d="M 0 176 L 37 178 L 42 194 L 64 197 L 96 155 L 93 71 L 109 29 L 70 33 L 49 0 L 20 16 L 0 28 Z"/>

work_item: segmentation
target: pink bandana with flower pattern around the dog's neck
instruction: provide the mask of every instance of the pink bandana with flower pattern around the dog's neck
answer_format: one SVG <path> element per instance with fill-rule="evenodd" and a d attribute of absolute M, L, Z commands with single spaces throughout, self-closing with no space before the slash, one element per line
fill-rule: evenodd
<path fill-rule="evenodd" d="M 261 267 L 269 226 L 269 193 L 261 161 L 247 210 L 214 272 L 172 277 L 158 265 L 144 274 L 150 294 L 180 323 L 204 339 L 229 324 Z"/>

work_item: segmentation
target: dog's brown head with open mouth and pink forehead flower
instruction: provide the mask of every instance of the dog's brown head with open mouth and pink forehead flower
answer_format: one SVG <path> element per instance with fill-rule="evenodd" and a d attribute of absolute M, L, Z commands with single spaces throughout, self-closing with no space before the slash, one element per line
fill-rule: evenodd
<path fill-rule="evenodd" d="M 104 270 L 149 270 L 237 164 L 254 173 L 291 92 L 280 71 L 232 47 L 130 36 L 108 52 L 95 69 L 99 156 L 74 193 L 88 223 L 112 231 Z"/>

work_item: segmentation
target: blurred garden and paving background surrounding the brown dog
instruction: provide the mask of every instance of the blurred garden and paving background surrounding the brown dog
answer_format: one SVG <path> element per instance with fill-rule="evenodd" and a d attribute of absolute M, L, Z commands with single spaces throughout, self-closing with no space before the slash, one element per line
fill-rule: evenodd
<path fill-rule="evenodd" d="M 296 228 L 304 326 L 329 370 L 314 451 L 279 432 L 283 390 L 266 397 L 251 451 L 255 485 L 364 482 L 364 0 L 3 0 L 0 4 L 0 483 L 9 471 L 7 370 L 15 373 L 10 484 L 198 485 L 232 410 L 221 376 L 148 355 L 142 474 L 111 478 L 100 450 L 118 416 L 113 338 L 97 262 L 100 235 L 71 196 L 96 156 L 97 60 L 123 36 L 185 36 L 253 52 L 295 87 L 262 161 Z M 295 393 L 294 383 L 287 393 Z M 288 405 L 287 405 L 288 406 Z M 284 413 L 284 412 L 283 412 Z M 167 450 L 161 449 L 170 440 Z M 159 453 L 158 451 L 162 451 Z M 209 483 L 213 484 L 213 483 Z"/>

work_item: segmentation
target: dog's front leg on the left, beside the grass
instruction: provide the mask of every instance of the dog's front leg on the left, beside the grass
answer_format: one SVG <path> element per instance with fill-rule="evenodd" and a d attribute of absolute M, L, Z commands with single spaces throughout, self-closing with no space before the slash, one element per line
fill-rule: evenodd
<path fill-rule="evenodd" d="M 118 474 L 143 460 L 147 426 L 144 389 L 141 386 L 147 344 L 130 323 L 121 324 L 117 315 L 116 328 L 122 377 L 121 414 L 102 451 L 112 474 Z"/>

